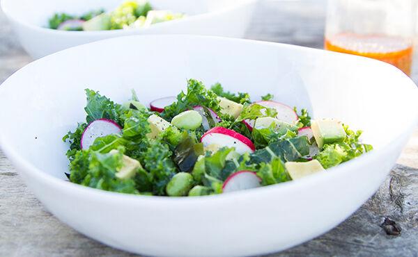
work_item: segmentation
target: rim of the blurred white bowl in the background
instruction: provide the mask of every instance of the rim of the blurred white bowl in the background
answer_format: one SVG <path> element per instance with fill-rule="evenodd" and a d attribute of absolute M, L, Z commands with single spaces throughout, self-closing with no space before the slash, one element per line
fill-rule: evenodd
<path fill-rule="evenodd" d="M 86 37 L 86 36 L 88 37 L 88 36 L 100 36 L 100 35 L 107 35 L 107 36 L 130 35 L 131 33 L 134 34 L 135 32 L 138 32 L 138 31 L 146 32 L 146 31 L 153 30 L 155 28 L 164 28 L 166 26 L 168 27 L 176 26 L 176 24 L 179 24 L 179 23 L 181 24 L 183 22 L 194 22 L 196 20 L 203 19 L 203 18 L 210 19 L 210 17 L 214 15 L 228 13 L 230 10 L 233 10 L 235 8 L 240 8 L 240 6 L 245 6 L 250 3 L 256 3 L 258 0 L 240 0 L 240 1 L 236 1 L 236 3 L 233 6 L 229 6 L 229 8 L 224 8 L 222 10 L 214 10 L 211 12 L 201 13 L 198 15 L 185 16 L 185 17 L 182 17 L 181 19 L 173 19 L 167 22 L 160 22 L 157 24 L 153 24 L 153 26 L 148 26 L 148 27 L 143 27 L 143 28 L 127 28 L 127 29 L 121 28 L 121 29 L 106 30 L 106 31 L 61 31 L 61 30 L 57 30 L 53 28 L 36 26 L 29 22 L 24 22 L 21 19 L 17 19 L 17 17 L 13 15 L 13 12 L 11 12 L 7 8 L 8 1 L 9 0 L 1 0 L 0 9 L 3 11 L 6 17 L 8 17 L 8 19 L 13 20 L 13 22 L 20 24 L 21 26 L 31 28 L 32 30 L 41 32 L 41 33 L 50 33 L 50 34 L 56 34 L 56 35 L 71 35 L 71 36 L 77 36 L 77 37 Z M 10 1 L 14 1 L 14 0 L 10 0 Z"/>

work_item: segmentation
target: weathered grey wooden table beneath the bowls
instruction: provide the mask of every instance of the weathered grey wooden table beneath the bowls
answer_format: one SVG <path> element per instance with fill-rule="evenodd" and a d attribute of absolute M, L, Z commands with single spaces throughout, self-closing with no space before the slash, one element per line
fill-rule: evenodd
<path fill-rule="evenodd" d="M 264 1 L 247 38 L 321 48 L 324 13 L 322 1 Z M 0 83 L 29 62 L 0 13 Z M 417 83 L 417 65 L 412 78 Z M 332 231 L 274 256 L 417 256 L 417 154 L 418 131 L 362 208 Z M 0 256 L 131 255 L 86 238 L 52 216 L 0 151 Z"/>

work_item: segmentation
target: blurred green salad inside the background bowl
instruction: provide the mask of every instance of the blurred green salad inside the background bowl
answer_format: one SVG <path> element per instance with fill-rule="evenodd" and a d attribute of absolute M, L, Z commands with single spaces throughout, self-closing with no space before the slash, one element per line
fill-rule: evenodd
<path fill-rule="evenodd" d="M 140 28 L 179 19 L 185 15 L 171 10 L 153 10 L 148 1 L 125 1 L 116 10 L 104 13 L 103 9 L 82 16 L 55 13 L 49 19 L 49 28 L 61 31 L 107 31 L 121 28 Z"/>

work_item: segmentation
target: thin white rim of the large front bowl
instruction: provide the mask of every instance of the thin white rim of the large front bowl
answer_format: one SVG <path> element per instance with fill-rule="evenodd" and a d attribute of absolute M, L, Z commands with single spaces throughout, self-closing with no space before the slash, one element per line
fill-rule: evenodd
<path fill-rule="evenodd" d="M 265 45 L 265 46 L 274 46 L 274 47 L 281 47 L 285 49 L 299 49 L 302 51 L 322 51 L 325 54 L 331 54 L 331 55 L 340 55 L 345 56 L 345 58 L 355 58 L 359 59 L 362 58 L 363 61 L 368 61 L 371 63 L 375 63 L 375 65 L 380 66 L 386 66 L 389 67 L 389 69 L 393 69 L 394 72 L 402 73 L 403 76 L 406 76 L 406 78 L 409 79 L 410 83 L 409 85 L 405 85 L 407 87 L 414 87 L 415 90 L 418 90 L 417 85 L 412 81 L 410 77 L 405 75 L 400 69 L 394 67 L 393 65 L 389 65 L 388 63 L 383 63 L 379 60 L 374 60 L 371 58 L 365 58 L 362 56 L 353 56 L 346 53 L 336 53 L 332 51 L 325 51 L 322 49 L 312 49 L 309 47 L 300 47 L 296 45 L 291 44 L 282 44 L 282 43 L 276 43 L 276 42 L 263 42 L 258 40 L 245 40 L 245 39 L 236 39 L 236 38 L 222 38 L 222 37 L 216 37 L 216 36 L 207 36 L 207 35 L 127 35 L 123 37 L 118 38 L 108 38 L 105 40 L 98 40 L 95 42 L 89 42 L 87 44 L 81 44 L 75 47 L 70 47 L 69 49 L 64 49 L 61 51 L 57 51 L 56 53 L 52 53 L 48 56 L 42 57 L 38 60 L 34 60 L 32 63 L 29 63 L 28 65 L 25 65 L 21 69 L 17 70 L 17 72 L 13 73 L 11 76 L 9 76 L 3 83 L 0 84 L 0 93 L 6 86 L 4 84 L 7 84 L 10 78 L 13 78 L 15 76 L 19 76 L 20 73 L 25 72 L 26 69 L 31 69 L 31 66 L 37 65 L 38 63 L 42 63 L 47 61 L 49 58 L 52 58 L 51 56 L 59 56 L 62 54 L 65 54 L 68 51 L 77 51 L 78 48 L 83 47 L 91 47 L 91 45 L 95 44 L 107 44 L 107 42 L 111 42 L 111 44 L 115 44 L 116 41 L 121 40 L 130 40 L 132 38 L 184 38 L 184 39 L 201 39 L 201 40 L 220 40 L 224 42 L 231 42 L 235 44 L 251 44 L 251 45 Z M 117 43 L 117 42 L 116 42 Z M 406 84 L 406 83 L 403 83 Z M 418 104 L 418 103 L 417 103 Z M 106 190 L 99 190 L 96 188 L 89 188 L 84 185 L 79 185 L 76 183 L 68 183 L 68 181 L 64 181 L 62 179 L 56 178 L 55 176 L 49 175 L 45 172 L 42 172 L 42 169 L 39 169 L 38 167 L 34 167 L 29 163 L 29 161 L 25 160 L 20 154 L 15 151 L 13 148 L 12 142 L 7 140 L 7 138 L 4 136 L 4 133 L 1 133 L 1 126 L 0 126 L 0 149 L 6 154 L 7 158 L 13 163 L 18 164 L 21 169 L 19 172 L 22 173 L 31 173 L 31 176 L 36 176 L 39 180 L 44 181 L 45 183 L 48 183 L 53 188 L 59 188 L 60 190 L 66 190 L 66 191 L 77 191 L 80 194 L 87 196 L 87 194 L 90 197 L 103 197 L 106 199 L 118 199 L 118 201 L 144 201 L 146 203 L 150 204 L 157 204 L 157 203 L 172 203 L 172 204 L 196 204 L 203 201 L 203 199 L 208 201 L 221 201 L 221 200 L 231 200 L 236 199 L 236 197 L 245 197 L 247 194 L 254 194 L 254 195 L 263 195 L 266 192 L 274 191 L 275 194 L 280 194 L 281 192 L 285 190 L 295 190 L 296 188 L 306 188 L 309 185 L 313 185 L 315 183 L 318 183 L 319 181 L 324 180 L 331 180 L 336 176 L 342 176 L 342 174 L 346 174 L 351 172 L 355 167 L 362 166 L 362 163 L 366 160 L 373 160 L 378 158 L 381 154 L 384 154 L 385 152 L 390 150 L 390 145 L 394 144 L 394 142 L 397 142 L 401 140 L 403 135 L 410 135 L 412 131 L 417 127 L 418 125 L 418 108 L 415 110 L 415 113 L 412 113 L 410 122 L 408 124 L 409 126 L 404 126 L 401 128 L 401 130 L 398 132 L 398 135 L 396 135 L 395 138 L 387 142 L 387 144 L 381 145 L 379 149 L 374 149 L 373 151 L 369 151 L 367 153 L 362 154 L 361 156 L 355 158 L 354 160 L 350 160 L 346 163 L 341 163 L 337 166 L 331 167 L 327 169 L 327 171 L 330 172 L 321 172 L 312 174 L 310 176 L 307 176 L 305 178 L 302 178 L 297 181 L 287 181 L 286 183 L 278 183 L 274 185 L 268 185 L 268 186 L 261 186 L 260 188 L 252 188 L 250 190 L 240 190 L 235 192 L 230 192 L 229 194 L 214 194 L 214 195 L 208 195 L 202 197 L 167 197 L 167 196 L 154 196 L 154 195 L 144 195 L 144 194 L 125 194 L 120 192 L 110 192 Z M 16 165 L 17 166 L 17 165 Z M 343 169 L 339 172 L 337 172 L 337 169 Z"/>

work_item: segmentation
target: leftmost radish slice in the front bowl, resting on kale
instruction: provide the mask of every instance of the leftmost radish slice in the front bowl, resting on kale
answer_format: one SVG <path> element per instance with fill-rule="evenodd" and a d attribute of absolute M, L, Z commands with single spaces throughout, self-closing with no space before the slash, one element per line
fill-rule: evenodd
<path fill-rule="evenodd" d="M 86 130 L 82 135 L 81 145 L 82 149 L 88 149 L 93 145 L 96 138 L 104 137 L 110 134 L 121 133 L 122 128 L 116 122 L 110 119 L 96 119 L 88 124 Z"/>

